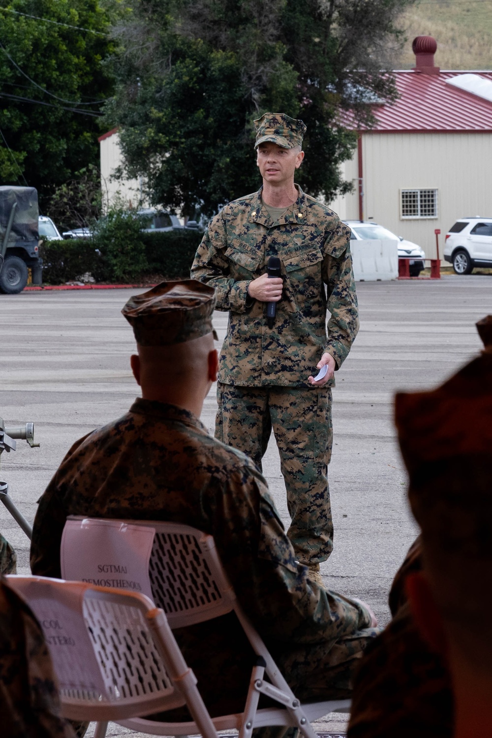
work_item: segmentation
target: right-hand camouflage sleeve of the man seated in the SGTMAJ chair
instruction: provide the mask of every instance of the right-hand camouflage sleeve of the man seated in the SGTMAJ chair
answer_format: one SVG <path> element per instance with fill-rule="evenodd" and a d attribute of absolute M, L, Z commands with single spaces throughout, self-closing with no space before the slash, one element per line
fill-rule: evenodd
<path fill-rule="evenodd" d="M 297 564 L 262 479 L 250 467 L 229 475 L 223 494 L 209 498 L 215 508 L 209 519 L 222 521 L 214 531 L 218 551 L 263 637 L 313 644 L 369 627 L 370 614 L 361 604 L 319 587 L 308 579 L 308 568 Z"/>

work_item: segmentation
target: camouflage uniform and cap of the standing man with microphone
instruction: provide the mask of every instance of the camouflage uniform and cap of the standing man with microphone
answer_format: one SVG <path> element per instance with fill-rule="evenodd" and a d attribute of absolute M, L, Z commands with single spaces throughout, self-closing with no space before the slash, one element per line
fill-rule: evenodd
<path fill-rule="evenodd" d="M 283 114 L 265 114 L 255 124 L 255 148 L 263 142 L 295 148 L 306 130 L 302 120 Z M 350 230 L 295 187 L 297 201 L 280 214 L 264 204 L 263 187 L 226 205 L 210 222 L 191 273 L 215 287 L 218 310 L 229 311 L 215 436 L 261 470 L 273 428 L 291 516 L 288 537 L 299 561 L 316 571 L 333 548 L 327 465 L 334 380 L 313 387 L 308 376 L 325 352 L 336 369 L 342 365 L 358 331 L 358 309 Z M 283 294 L 268 328 L 266 303 L 252 300 L 248 287 L 271 256 L 280 258 Z"/>

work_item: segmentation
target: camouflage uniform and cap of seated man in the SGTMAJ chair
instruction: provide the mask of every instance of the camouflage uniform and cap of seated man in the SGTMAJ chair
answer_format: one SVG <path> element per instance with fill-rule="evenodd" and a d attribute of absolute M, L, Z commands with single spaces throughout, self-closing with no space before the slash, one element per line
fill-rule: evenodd
<path fill-rule="evenodd" d="M 214 305 L 212 288 L 188 280 L 132 297 L 123 313 L 140 346 L 174 346 L 212 331 Z M 170 520 L 212 534 L 240 603 L 299 697 L 350 695 L 353 669 L 378 633 L 370 613 L 308 579 L 257 467 L 188 410 L 136 399 L 72 446 L 39 502 L 33 573 L 60 576 L 69 514 Z M 176 635 L 211 713 L 240 710 L 253 656 L 235 615 Z"/>

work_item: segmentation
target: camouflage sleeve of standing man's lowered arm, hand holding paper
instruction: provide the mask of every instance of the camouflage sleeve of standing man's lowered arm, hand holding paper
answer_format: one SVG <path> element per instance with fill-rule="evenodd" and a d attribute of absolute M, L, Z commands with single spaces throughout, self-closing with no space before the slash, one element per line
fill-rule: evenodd
<path fill-rule="evenodd" d="M 323 248 L 322 276 L 327 286 L 328 351 L 339 369 L 358 333 L 358 303 L 350 253 L 350 229 L 334 221 Z"/>

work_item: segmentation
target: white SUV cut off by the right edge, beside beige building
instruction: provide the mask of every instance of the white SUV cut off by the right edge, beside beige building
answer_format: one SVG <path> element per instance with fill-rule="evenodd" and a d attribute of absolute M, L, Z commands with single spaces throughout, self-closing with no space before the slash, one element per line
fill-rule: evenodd
<path fill-rule="evenodd" d="M 492 267 L 492 218 L 460 218 L 446 233 L 444 259 L 457 275 L 471 274 L 474 266 Z"/>

